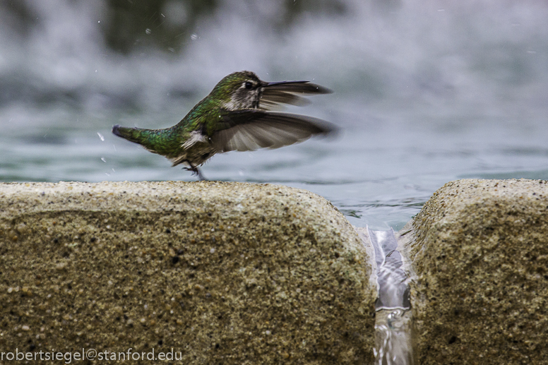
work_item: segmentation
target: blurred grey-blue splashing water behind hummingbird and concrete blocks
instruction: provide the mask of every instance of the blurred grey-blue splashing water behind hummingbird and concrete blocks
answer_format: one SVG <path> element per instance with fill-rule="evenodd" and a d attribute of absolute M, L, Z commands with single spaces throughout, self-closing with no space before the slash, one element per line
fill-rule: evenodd
<path fill-rule="evenodd" d="M 334 93 L 336 140 L 216 155 L 400 229 L 447 181 L 548 179 L 544 0 L 0 1 L 0 181 L 185 180 L 113 124 L 176 124 L 232 71 Z"/>

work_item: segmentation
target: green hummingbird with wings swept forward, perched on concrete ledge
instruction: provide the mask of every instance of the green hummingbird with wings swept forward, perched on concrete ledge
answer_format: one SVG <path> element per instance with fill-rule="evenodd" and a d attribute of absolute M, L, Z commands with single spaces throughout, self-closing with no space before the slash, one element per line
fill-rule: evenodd
<path fill-rule="evenodd" d="M 311 136 L 327 136 L 328 121 L 278 112 L 282 104 L 305 105 L 302 95 L 331 91 L 309 81 L 265 82 L 251 71 L 234 72 L 219 81 L 178 124 L 163 129 L 112 127 L 112 133 L 167 157 L 173 166 L 205 180 L 198 169 L 216 153 L 280 148 Z"/>

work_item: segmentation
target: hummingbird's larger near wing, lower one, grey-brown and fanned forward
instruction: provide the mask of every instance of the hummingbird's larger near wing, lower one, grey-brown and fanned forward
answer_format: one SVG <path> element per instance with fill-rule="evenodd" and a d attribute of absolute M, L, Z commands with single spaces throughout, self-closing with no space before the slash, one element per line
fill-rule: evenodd
<path fill-rule="evenodd" d="M 327 136 L 336 130 L 322 119 L 261 109 L 226 112 L 219 126 L 211 136 L 219 152 L 280 148 L 311 136 Z"/>

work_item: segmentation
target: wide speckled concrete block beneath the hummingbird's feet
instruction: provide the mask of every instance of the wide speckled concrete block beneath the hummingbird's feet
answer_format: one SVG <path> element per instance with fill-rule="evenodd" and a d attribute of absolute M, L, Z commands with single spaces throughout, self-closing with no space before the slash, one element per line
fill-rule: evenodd
<path fill-rule="evenodd" d="M 342 214 L 299 189 L 0 184 L 0 348 L 370 364 L 368 262 Z"/>

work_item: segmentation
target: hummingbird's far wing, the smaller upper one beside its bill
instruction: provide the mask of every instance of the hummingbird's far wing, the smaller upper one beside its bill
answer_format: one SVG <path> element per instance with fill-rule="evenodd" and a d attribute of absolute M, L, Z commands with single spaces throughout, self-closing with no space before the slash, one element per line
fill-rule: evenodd
<path fill-rule="evenodd" d="M 308 81 L 292 81 L 290 83 L 273 83 L 267 85 L 261 94 L 259 105 L 261 109 L 276 109 L 280 104 L 292 104 L 302 107 L 310 104 L 304 95 L 329 94 L 331 90 Z"/>

